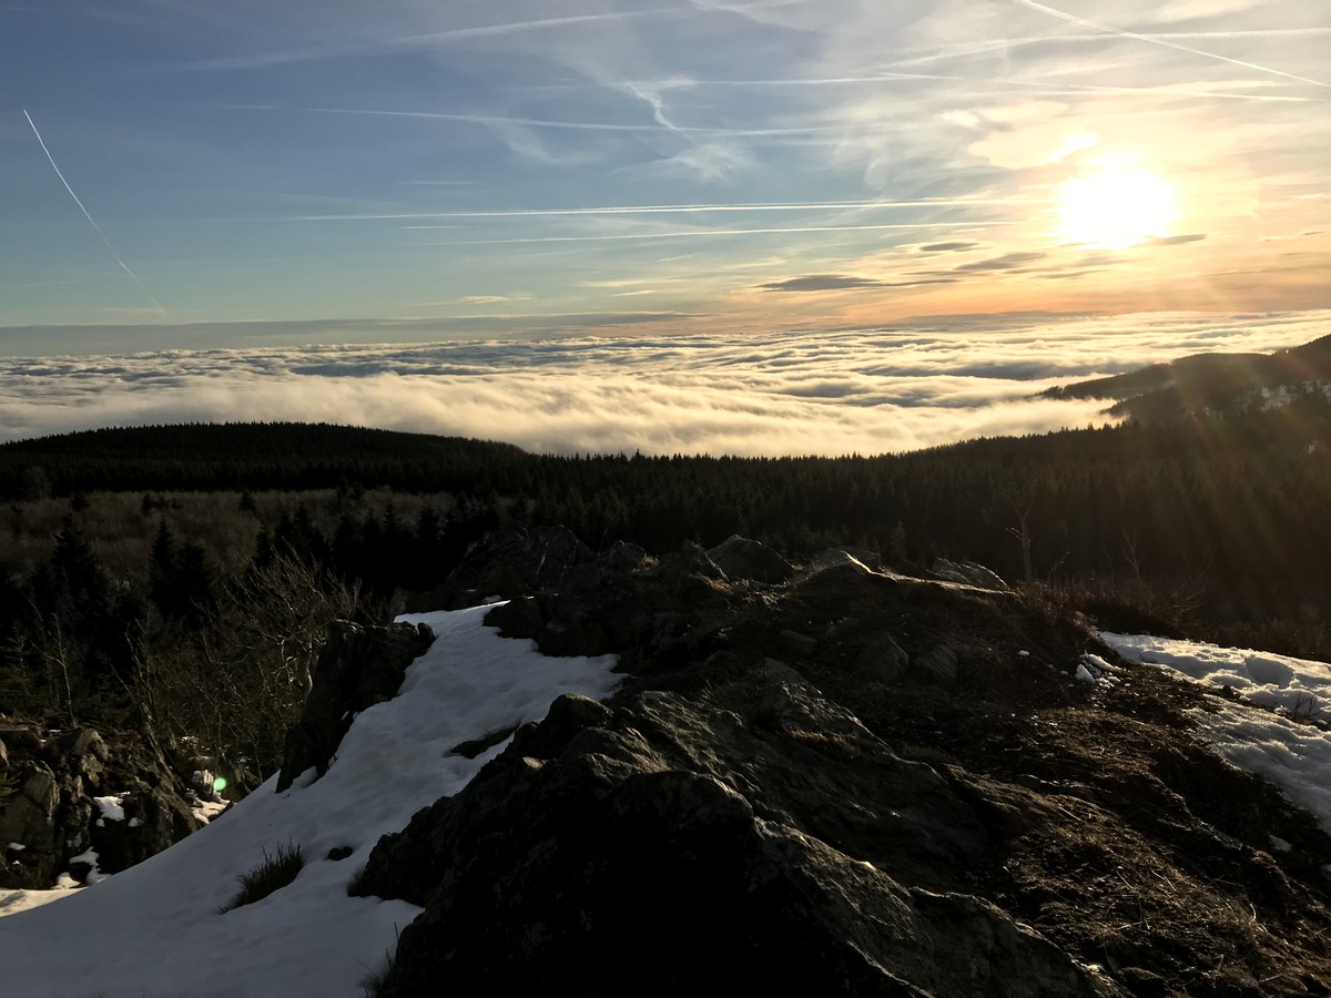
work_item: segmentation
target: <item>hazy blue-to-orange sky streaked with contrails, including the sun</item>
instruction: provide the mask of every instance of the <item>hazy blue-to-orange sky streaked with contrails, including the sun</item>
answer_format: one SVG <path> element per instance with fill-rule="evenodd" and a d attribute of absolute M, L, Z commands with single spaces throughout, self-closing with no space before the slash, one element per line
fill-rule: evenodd
<path fill-rule="evenodd" d="M 1328 45 L 1324 0 L 0 4 L 0 353 L 1326 307 Z"/>

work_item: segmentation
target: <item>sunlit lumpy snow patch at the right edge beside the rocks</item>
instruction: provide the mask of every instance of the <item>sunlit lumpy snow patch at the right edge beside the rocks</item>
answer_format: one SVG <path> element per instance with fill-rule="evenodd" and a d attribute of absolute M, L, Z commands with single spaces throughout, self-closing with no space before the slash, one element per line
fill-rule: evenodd
<path fill-rule="evenodd" d="M 1126 659 L 1240 693 L 1248 703 L 1217 697 L 1214 712 L 1195 712 L 1207 741 L 1234 765 L 1271 780 L 1331 833 L 1331 733 L 1322 724 L 1331 720 L 1331 665 L 1149 635 L 1101 637 Z"/>

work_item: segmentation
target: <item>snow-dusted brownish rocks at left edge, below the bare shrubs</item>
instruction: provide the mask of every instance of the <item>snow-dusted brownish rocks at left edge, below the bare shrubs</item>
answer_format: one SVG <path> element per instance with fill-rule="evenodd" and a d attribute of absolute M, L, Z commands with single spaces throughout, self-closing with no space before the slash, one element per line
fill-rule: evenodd
<path fill-rule="evenodd" d="M 0 723 L 0 888 L 84 880 L 93 857 L 118 873 L 200 826 L 185 780 L 137 733 Z"/>

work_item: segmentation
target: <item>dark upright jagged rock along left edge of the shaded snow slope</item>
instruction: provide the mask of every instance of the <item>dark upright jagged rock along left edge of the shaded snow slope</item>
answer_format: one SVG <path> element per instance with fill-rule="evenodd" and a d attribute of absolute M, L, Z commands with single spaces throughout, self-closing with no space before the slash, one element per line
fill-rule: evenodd
<path fill-rule="evenodd" d="M 311 766 L 323 776 L 354 716 L 393 699 L 407 665 L 433 641 L 434 632 L 426 624 L 329 624 L 301 720 L 286 733 L 278 792 Z"/>

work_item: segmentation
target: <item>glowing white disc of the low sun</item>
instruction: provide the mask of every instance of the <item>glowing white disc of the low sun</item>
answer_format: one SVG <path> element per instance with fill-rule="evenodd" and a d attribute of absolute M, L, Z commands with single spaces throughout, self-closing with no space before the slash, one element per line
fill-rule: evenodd
<path fill-rule="evenodd" d="M 1063 184 L 1059 234 L 1082 245 L 1123 249 L 1167 236 L 1178 218 L 1174 188 L 1141 166 L 1101 165 Z"/>

